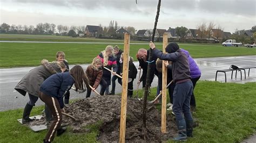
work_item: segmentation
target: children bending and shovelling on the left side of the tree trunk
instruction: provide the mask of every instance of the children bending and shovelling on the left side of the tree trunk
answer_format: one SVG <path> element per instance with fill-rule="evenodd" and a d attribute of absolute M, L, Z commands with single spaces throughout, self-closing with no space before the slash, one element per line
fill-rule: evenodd
<path fill-rule="evenodd" d="M 122 85 L 122 80 L 116 74 L 122 75 L 123 51 L 118 46 L 114 48 L 107 46 L 105 51 L 93 59 L 91 65 L 84 69 L 81 66 L 74 66 L 69 70 L 68 61 L 65 60 L 64 52 L 56 53 L 56 61 L 49 62 L 42 60 L 41 66 L 33 68 L 27 73 L 15 87 L 20 94 L 29 94 L 29 102 L 26 103 L 22 123 L 28 123 L 33 119 L 29 118 L 30 112 L 35 106 L 38 98 L 45 103 L 46 121 L 51 121 L 48 133 L 44 138 L 44 142 L 51 142 L 55 137 L 65 132 L 65 128 L 60 127 L 62 121 L 62 113 L 64 106 L 68 106 L 70 98 L 70 89 L 75 85 L 75 90 L 87 89 L 86 97 L 90 97 L 91 91 L 95 91 L 100 85 L 100 95 L 109 94 L 109 86 L 111 84 L 112 70 L 112 85 L 113 82 L 118 82 Z M 118 60 L 118 61 L 117 61 Z M 137 69 L 133 64 L 132 58 L 129 61 L 129 82 L 128 90 L 129 97 L 132 97 L 133 80 L 136 78 Z M 107 69 L 109 70 L 107 70 Z M 115 85 L 112 87 L 114 94 Z M 63 100 L 64 98 L 64 100 Z"/>

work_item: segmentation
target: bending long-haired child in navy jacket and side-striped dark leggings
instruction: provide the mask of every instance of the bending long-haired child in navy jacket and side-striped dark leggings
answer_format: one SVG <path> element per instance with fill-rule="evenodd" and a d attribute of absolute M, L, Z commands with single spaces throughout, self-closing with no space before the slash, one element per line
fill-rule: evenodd
<path fill-rule="evenodd" d="M 54 74 L 42 83 L 39 98 L 48 106 L 53 115 L 53 121 L 44 142 L 51 142 L 56 130 L 57 136 L 65 132 L 63 128 L 60 128 L 62 112 L 64 112 L 63 97 L 73 84 L 77 91 L 84 89 L 84 83 L 87 84 L 88 81 L 81 66 L 75 66 L 69 72 Z"/>

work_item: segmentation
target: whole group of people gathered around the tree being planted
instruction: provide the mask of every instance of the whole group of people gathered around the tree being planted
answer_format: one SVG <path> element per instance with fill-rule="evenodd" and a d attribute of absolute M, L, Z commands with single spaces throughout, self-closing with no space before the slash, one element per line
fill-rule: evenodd
<path fill-rule="evenodd" d="M 196 108 L 193 88 L 200 78 L 200 70 L 189 53 L 184 49 L 180 49 L 176 43 L 167 45 L 165 49 L 167 54 L 163 54 L 156 49 L 153 42 L 150 42 L 150 47 L 153 51 L 151 61 L 149 61 L 148 56 L 149 50 L 139 49 L 136 55 L 139 61 L 139 69 L 143 69 L 143 74 L 138 84 L 143 82 L 143 89 L 145 88 L 147 65 L 150 63 L 150 84 L 154 75 L 158 76 L 159 93 L 161 90 L 162 60 L 172 62 L 171 65 L 169 62 L 164 62 L 164 65 L 168 69 L 168 83 L 173 81 L 169 87 L 169 95 L 170 101 L 173 103 L 172 109 L 176 116 L 179 133 L 174 140 L 185 140 L 187 137 L 192 136 L 193 119 L 190 105 L 192 103 L 192 106 Z M 118 83 L 122 85 L 122 79 L 117 74 L 122 75 L 123 51 L 118 46 L 106 46 L 105 50 L 92 60 L 92 63 L 85 71 L 78 65 L 69 70 L 64 52 L 57 52 L 55 62 L 42 60 L 41 63 L 41 66 L 30 70 L 16 85 L 15 89 L 23 96 L 26 95 L 26 92 L 29 94 L 29 102 L 25 105 L 23 112 L 23 123 L 33 120 L 29 118 L 29 115 L 38 98 L 45 103 L 46 120 L 52 120 L 52 123 L 44 142 L 51 142 L 55 137 L 55 132 L 57 132 L 57 136 L 65 132 L 65 128 L 61 128 L 60 124 L 62 112 L 65 112 L 64 106 L 69 104 L 69 90 L 73 84 L 76 91 L 87 89 L 86 98 L 90 97 L 91 91 L 95 91 L 99 85 L 100 95 L 114 95 L 117 79 Z M 137 68 L 133 64 L 133 58 L 130 56 L 128 74 L 130 81 L 127 89 L 129 97 L 133 95 L 133 81 L 137 72 Z M 112 78 L 111 74 L 113 75 Z M 112 89 L 109 92 L 111 81 Z"/>

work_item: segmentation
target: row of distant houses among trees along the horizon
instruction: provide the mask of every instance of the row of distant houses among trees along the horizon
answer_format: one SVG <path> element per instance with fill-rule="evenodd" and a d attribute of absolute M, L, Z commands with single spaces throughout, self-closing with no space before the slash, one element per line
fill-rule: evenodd
<path fill-rule="evenodd" d="M 87 25 L 84 35 L 86 37 L 98 37 L 99 32 L 102 31 L 100 26 L 93 26 L 93 25 Z M 120 28 L 115 32 L 117 35 L 124 35 L 124 33 L 129 33 L 126 31 L 123 27 Z M 176 32 L 176 28 L 171 28 L 169 27 L 168 30 L 165 29 L 157 29 L 155 33 L 155 37 L 157 38 L 163 38 L 163 34 L 167 33 L 168 38 L 173 38 L 173 39 L 180 39 L 179 35 Z M 220 29 L 212 29 L 210 31 L 210 37 L 209 35 L 201 34 L 197 29 L 188 29 L 185 36 L 182 37 L 184 39 L 207 39 L 207 40 L 215 40 L 215 41 L 222 41 L 223 39 L 228 39 L 231 36 L 230 32 L 224 32 Z M 249 37 L 252 37 L 253 33 L 250 32 L 250 30 L 246 30 L 245 34 L 248 35 Z M 151 33 L 149 30 L 138 30 L 135 37 L 140 37 L 140 39 L 147 39 L 151 37 Z"/>

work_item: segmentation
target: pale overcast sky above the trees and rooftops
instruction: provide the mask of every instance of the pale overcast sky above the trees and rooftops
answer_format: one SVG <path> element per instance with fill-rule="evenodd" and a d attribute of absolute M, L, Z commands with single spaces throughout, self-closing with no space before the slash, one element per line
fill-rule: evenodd
<path fill-rule="evenodd" d="M 0 22 L 9 25 L 133 26 L 152 29 L 158 0 L 0 0 Z M 255 0 L 161 0 L 157 28 L 197 28 L 213 22 L 224 31 L 248 30 L 256 25 Z"/>

